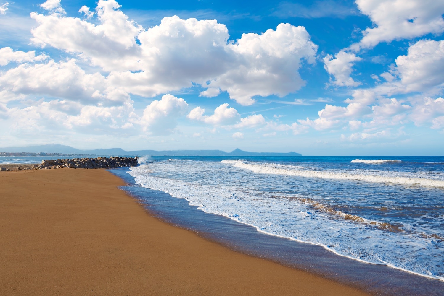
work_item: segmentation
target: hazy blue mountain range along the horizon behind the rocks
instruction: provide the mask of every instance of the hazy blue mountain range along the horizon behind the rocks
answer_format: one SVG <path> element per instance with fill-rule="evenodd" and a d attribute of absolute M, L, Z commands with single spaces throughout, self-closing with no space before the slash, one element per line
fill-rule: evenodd
<path fill-rule="evenodd" d="M 275 153 L 275 152 L 248 152 L 235 149 L 232 152 L 222 150 L 138 150 L 125 151 L 121 148 L 79 150 L 71 146 L 59 144 L 46 144 L 41 146 L 9 147 L 0 148 L 0 152 L 45 152 L 63 154 L 91 154 L 95 156 L 301 156 L 296 152 Z"/>

